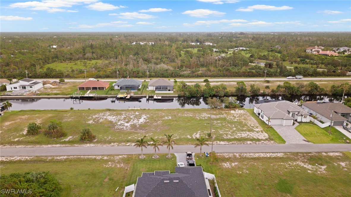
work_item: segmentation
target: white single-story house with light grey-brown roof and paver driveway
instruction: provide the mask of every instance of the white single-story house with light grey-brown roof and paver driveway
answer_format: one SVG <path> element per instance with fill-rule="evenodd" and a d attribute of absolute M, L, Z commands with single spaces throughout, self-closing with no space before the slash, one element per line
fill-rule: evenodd
<path fill-rule="evenodd" d="M 265 123 L 270 125 L 292 125 L 293 121 L 310 122 L 310 114 L 296 104 L 289 101 L 278 101 L 253 105 L 254 113 Z"/>

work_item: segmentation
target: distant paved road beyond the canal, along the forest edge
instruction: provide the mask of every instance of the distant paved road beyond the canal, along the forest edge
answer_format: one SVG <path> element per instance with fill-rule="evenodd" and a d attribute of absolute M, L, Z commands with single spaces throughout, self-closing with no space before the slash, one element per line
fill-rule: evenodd
<path fill-rule="evenodd" d="M 44 81 L 44 80 L 49 80 L 49 81 L 59 81 L 58 79 L 35 79 L 38 81 Z M 117 79 L 102 79 L 104 81 L 117 81 Z M 142 79 L 144 80 L 144 79 Z M 270 81 L 285 81 L 287 80 L 285 77 L 281 78 L 266 78 L 266 80 Z M 351 77 L 334 77 L 334 78 L 304 78 L 303 80 L 323 80 L 323 81 L 329 81 L 329 80 L 351 80 Z M 65 79 L 66 82 L 84 82 L 84 79 Z M 147 80 L 146 80 L 147 81 Z M 173 81 L 171 79 L 171 81 Z M 177 79 L 177 81 L 204 81 L 204 79 Z M 264 81 L 264 78 L 232 78 L 232 79 L 209 79 L 209 81 Z M 301 79 L 289 79 L 288 81 L 301 81 Z"/>

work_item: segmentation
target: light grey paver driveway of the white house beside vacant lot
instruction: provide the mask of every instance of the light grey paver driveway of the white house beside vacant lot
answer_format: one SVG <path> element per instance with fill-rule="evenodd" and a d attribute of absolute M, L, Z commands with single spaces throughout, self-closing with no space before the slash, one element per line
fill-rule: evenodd
<path fill-rule="evenodd" d="M 286 144 L 310 144 L 296 129 L 299 123 L 295 122 L 293 126 L 272 125 L 280 136 L 286 141 Z M 304 141 L 306 140 L 306 141 Z"/>

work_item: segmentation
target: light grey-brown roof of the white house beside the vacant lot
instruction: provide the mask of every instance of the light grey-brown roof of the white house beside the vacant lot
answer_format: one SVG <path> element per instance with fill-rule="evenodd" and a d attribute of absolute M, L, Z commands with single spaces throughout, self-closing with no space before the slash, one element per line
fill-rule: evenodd
<path fill-rule="evenodd" d="M 254 104 L 253 106 L 261 109 L 264 115 L 271 119 L 293 120 L 294 118 L 289 115 L 289 112 L 297 112 L 298 116 L 310 116 L 304 109 L 289 101 Z"/>

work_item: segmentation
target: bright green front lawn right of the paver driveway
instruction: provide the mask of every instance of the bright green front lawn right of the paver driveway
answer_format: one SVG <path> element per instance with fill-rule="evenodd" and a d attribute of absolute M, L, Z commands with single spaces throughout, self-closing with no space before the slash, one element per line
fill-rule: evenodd
<path fill-rule="evenodd" d="M 347 136 L 341 133 L 336 128 L 331 128 L 331 135 L 329 135 L 329 127 L 320 128 L 312 123 L 301 123 L 295 128 L 306 140 L 314 144 L 325 144 L 325 143 L 345 143 L 345 140 L 349 140 Z M 344 139 L 345 138 L 345 139 Z"/>

